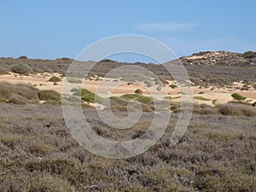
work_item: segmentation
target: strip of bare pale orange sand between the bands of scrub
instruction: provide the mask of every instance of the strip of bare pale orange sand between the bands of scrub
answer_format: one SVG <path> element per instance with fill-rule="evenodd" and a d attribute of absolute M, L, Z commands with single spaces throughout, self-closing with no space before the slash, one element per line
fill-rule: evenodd
<path fill-rule="evenodd" d="M 53 82 L 50 82 L 49 79 L 52 76 L 57 76 L 61 78 L 59 73 L 44 73 L 44 74 L 32 74 L 32 75 L 18 75 L 15 73 L 0 75 L 0 82 L 9 82 L 12 84 L 32 84 L 40 90 L 56 90 L 61 93 L 62 85 L 66 78 L 61 78 L 61 82 L 58 82 L 54 85 Z M 169 82 L 173 84 L 173 82 Z M 237 82 L 234 82 L 236 86 L 240 85 Z M 143 94 L 146 96 L 155 96 L 155 97 L 164 97 L 171 96 L 172 98 L 180 96 L 178 89 L 172 89 L 169 85 L 166 85 L 162 88 L 161 91 L 157 90 L 159 85 L 153 85 L 147 87 L 143 82 L 136 82 L 128 84 L 127 82 L 120 81 L 119 79 L 85 79 L 83 88 L 96 92 L 102 97 L 109 96 L 121 96 L 128 93 L 133 93 L 135 90 L 143 90 Z M 210 106 L 223 104 L 226 102 L 234 101 L 231 94 L 239 93 L 242 96 L 246 96 L 247 102 L 256 102 L 256 91 L 255 90 L 235 90 L 235 89 L 226 89 L 226 88 L 199 88 L 192 86 L 194 102 L 197 104 L 207 104 Z M 163 94 L 166 92 L 166 94 Z M 172 99 L 172 102 L 179 102 L 179 98 Z"/>

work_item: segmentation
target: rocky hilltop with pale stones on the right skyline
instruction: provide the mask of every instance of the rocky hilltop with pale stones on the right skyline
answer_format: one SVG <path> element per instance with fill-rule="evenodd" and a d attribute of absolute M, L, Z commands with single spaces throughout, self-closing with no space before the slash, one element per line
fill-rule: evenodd
<path fill-rule="evenodd" d="M 256 65 L 256 52 L 243 54 L 228 51 L 201 51 L 180 58 L 184 64 L 208 66 L 253 66 Z"/>

